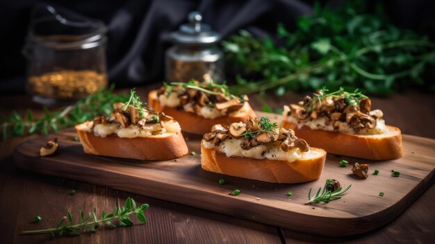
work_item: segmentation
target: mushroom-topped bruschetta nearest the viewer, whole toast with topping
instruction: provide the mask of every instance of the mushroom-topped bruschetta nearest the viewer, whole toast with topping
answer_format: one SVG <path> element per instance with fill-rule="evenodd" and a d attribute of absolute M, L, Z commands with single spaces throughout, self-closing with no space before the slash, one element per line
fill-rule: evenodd
<path fill-rule="evenodd" d="M 213 125 L 201 141 L 206 171 L 272 183 L 318 180 L 326 152 L 270 123 L 249 117 L 246 122 Z"/>

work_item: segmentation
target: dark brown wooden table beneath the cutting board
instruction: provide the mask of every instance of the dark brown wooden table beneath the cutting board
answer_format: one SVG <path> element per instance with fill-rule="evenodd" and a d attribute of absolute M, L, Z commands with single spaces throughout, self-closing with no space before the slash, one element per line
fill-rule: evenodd
<path fill-rule="evenodd" d="M 147 88 L 137 89 L 142 97 L 146 97 Z M 269 94 L 264 98 L 270 107 L 278 108 L 284 103 L 298 101 L 302 95 L 277 97 Z M 251 103 L 257 110 L 262 107 L 260 100 L 251 96 Z M 27 96 L 0 97 L 2 115 L 11 110 L 24 113 L 28 107 L 42 111 L 42 107 L 31 103 Z M 435 138 L 434 95 L 407 92 L 374 98 L 373 107 L 383 110 L 387 123 L 401 128 L 402 133 Z M 18 143 L 28 138 L 15 137 L 0 144 L 0 243 L 432 243 L 435 238 L 433 182 L 409 209 L 385 227 L 362 236 L 331 238 L 293 232 L 104 186 L 21 171 L 15 168 L 10 155 Z M 76 194 L 69 195 L 70 189 L 75 189 Z M 127 197 L 150 205 L 146 211 L 148 225 L 102 228 L 95 234 L 80 237 L 20 235 L 27 229 L 54 227 L 67 210 L 112 211 L 117 201 L 124 201 Z M 42 221 L 31 223 L 37 215 L 42 216 Z"/>

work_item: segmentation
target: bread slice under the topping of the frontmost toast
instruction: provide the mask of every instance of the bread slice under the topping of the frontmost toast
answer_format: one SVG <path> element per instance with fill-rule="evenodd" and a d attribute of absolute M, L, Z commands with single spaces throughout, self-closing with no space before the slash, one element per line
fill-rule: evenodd
<path fill-rule="evenodd" d="M 294 162 L 248 157 L 227 157 L 201 143 L 201 166 L 205 171 L 271 183 L 301 183 L 318 180 L 325 165 L 326 152 L 311 148 Z"/>

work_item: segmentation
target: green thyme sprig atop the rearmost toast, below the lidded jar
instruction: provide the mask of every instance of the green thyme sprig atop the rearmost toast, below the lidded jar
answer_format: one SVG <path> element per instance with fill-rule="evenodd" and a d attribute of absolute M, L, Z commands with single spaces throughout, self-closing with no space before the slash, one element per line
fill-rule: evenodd
<path fill-rule="evenodd" d="M 205 92 L 212 95 L 224 95 L 229 98 L 240 98 L 236 95 L 231 94 L 231 92 L 229 91 L 229 87 L 225 82 L 223 82 L 222 84 L 218 84 L 215 82 L 195 82 L 195 80 L 192 79 L 188 82 L 163 82 L 163 85 L 166 88 L 167 96 L 169 96 L 169 94 L 173 91 L 174 87 L 181 87 L 182 89 L 197 89 L 200 92 Z"/>

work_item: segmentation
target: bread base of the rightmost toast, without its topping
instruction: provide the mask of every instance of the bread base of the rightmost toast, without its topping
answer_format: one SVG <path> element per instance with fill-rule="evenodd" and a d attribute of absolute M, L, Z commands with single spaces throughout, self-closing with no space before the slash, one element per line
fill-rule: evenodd
<path fill-rule="evenodd" d="M 399 128 L 386 126 L 388 132 L 384 134 L 361 135 L 311 130 L 306 126 L 298 129 L 295 123 L 283 122 L 284 128 L 295 130 L 310 146 L 323 148 L 328 153 L 372 160 L 398 159 L 402 157 L 402 133 Z"/>

